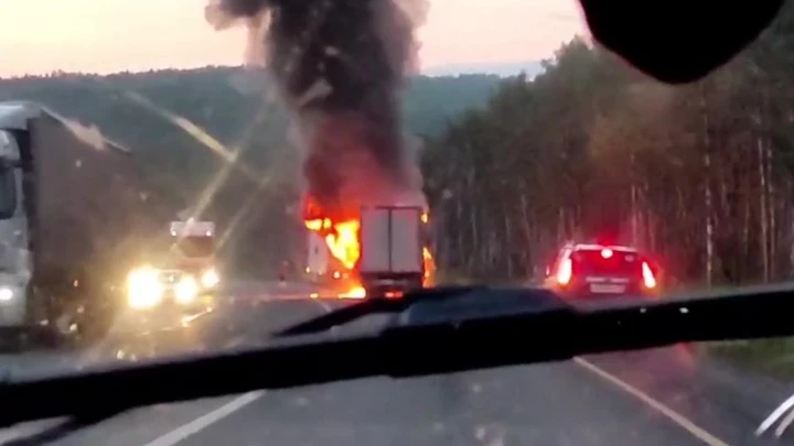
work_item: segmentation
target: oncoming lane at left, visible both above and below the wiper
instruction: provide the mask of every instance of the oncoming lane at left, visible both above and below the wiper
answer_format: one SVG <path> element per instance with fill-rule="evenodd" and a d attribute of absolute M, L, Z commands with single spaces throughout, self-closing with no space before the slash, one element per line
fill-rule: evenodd
<path fill-rule="evenodd" d="M 213 313 L 202 315 L 186 326 L 169 324 L 162 325 L 158 331 L 136 331 L 135 327 L 126 325 L 133 318 L 119 317 L 116 333 L 92 348 L 0 355 L 0 372 L 10 378 L 45 376 L 148 357 L 262 345 L 267 336 L 278 328 L 347 304 L 309 300 L 307 296 L 311 291 L 315 289 L 305 283 L 237 282 L 224 290 Z M 122 444 L 127 438 L 130 440 L 125 444 L 138 444 L 141 436 L 165 432 L 234 399 L 213 398 L 133 410 L 90 426 L 72 424 L 66 420 L 23 423 L 0 429 L 0 445 L 57 445 L 61 442 L 105 445 L 108 437 L 114 438 L 112 444 Z M 71 443 L 75 440 L 77 443 Z"/>

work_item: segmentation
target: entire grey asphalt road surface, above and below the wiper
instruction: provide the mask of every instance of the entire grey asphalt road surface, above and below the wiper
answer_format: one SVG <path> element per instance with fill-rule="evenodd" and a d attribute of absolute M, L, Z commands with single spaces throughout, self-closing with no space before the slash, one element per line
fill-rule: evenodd
<path fill-rule="evenodd" d="M 0 367 L 12 373 L 44 373 L 147 355 L 257 345 L 273 329 L 345 304 L 299 298 L 309 291 L 301 284 L 238 284 L 215 312 L 181 329 L 138 334 L 82 352 L 2 357 Z M 351 329 L 372 329 L 382 322 L 366 320 Z M 779 440 L 754 435 L 791 393 L 790 385 L 676 346 L 421 379 L 249 392 L 133 410 L 87 425 L 25 423 L 0 431 L 0 444 L 794 444 L 794 432 Z"/>

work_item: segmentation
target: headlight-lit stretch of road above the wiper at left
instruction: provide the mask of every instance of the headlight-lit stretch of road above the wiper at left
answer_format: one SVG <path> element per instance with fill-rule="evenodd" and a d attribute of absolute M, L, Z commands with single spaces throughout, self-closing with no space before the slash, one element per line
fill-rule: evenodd
<path fill-rule="evenodd" d="M 309 293 L 315 291 L 301 282 L 240 281 L 222 291 L 213 314 L 198 312 L 186 317 L 186 324 L 169 317 L 144 327 L 138 324 L 138 312 L 128 309 L 118 315 L 110 334 L 90 348 L 0 353 L 0 374 L 47 374 L 136 357 L 256 345 L 279 327 L 319 316 L 330 308 L 330 304 L 319 301 L 293 302 L 299 297 L 305 301 Z"/>

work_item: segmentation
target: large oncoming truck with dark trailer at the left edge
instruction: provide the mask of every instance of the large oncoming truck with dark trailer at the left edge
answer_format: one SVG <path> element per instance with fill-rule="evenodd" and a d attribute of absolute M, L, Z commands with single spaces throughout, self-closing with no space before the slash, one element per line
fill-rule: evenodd
<path fill-rule="evenodd" d="M 0 102 L 2 340 L 104 336 L 147 237 L 142 184 L 131 153 L 96 129 Z"/>

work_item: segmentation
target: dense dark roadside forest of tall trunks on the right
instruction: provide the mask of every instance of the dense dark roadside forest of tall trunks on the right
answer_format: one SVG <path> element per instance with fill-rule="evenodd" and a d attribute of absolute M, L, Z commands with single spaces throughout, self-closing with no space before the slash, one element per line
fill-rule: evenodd
<path fill-rule="evenodd" d="M 794 7 L 706 79 L 670 87 L 575 39 L 502 81 L 425 159 L 440 268 L 525 280 L 611 236 L 686 284 L 792 275 Z"/>

